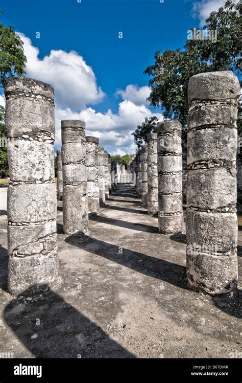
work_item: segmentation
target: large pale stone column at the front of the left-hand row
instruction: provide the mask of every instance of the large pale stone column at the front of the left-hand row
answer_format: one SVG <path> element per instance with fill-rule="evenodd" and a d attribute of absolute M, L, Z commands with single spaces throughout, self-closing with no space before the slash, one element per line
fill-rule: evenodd
<path fill-rule="evenodd" d="M 5 97 L 8 290 L 36 294 L 58 278 L 54 89 L 31 78 L 12 77 L 6 81 Z"/>

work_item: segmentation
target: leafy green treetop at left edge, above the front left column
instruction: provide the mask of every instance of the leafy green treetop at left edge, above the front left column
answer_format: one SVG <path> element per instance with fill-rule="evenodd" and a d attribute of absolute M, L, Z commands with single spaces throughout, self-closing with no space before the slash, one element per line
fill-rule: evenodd
<path fill-rule="evenodd" d="M 26 62 L 23 42 L 14 31 L 14 27 L 10 25 L 7 28 L 0 24 L 0 82 L 2 85 L 8 77 L 24 75 Z"/>

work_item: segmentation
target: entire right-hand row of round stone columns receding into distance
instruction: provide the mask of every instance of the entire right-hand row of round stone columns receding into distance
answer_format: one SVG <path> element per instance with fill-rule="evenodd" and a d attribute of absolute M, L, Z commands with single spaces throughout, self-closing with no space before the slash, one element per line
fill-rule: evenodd
<path fill-rule="evenodd" d="M 187 166 L 179 121 L 157 124 L 136 154 L 136 192 L 161 234 L 183 231 L 186 194 L 186 266 L 189 284 L 223 294 L 237 284 L 236 151 L 238 79 L 232 72 L 202 73 L 188 84 Z M 186 189 L 186 190 L 184 190 Z M 184 193 L 184 194 L 183 194 Z"/>

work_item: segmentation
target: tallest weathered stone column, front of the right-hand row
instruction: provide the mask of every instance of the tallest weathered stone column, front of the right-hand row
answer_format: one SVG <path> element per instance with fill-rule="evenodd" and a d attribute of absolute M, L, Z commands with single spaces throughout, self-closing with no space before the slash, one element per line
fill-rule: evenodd
<path fill-rule="evenodd" d="M 209 294 L 237 284 L 236 150 L 239 82 L 201 73 L 188 84 L 187 278 Z"/>

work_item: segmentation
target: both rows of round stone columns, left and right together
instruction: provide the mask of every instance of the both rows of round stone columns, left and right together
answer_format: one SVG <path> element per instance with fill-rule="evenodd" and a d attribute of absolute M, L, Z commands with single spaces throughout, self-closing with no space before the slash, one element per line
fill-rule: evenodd
<path fill-rule="evenodd" d="M 187 278 L 210 294 L 237 283 L 236 150 L 240 86 L 232 72 L 191 77 L 188 84 Z M 41 81 L 10 78 L 5 84 L 8 189 L 8 288 L 44 291 L 57 281 L 54 178 L 54 89 Z M 136 190 L 149 214 L 158 209 L 161 234 L 183 230 L 181 125 L 163 121 L 133 159 Z M 85 122 L 61 122 L 58 198 L 65 234 L 85 232 L 116 174 Z M 62 166 L 62 172 L 61 172 Z M 116 167 L 117 171 L 117 167 Z M 61 178 L 62 174 L 62 178 Z M 61 195 L 62 194 L 62 195 Z M 213 249 L 213 252 L 211 252 Z"/>

